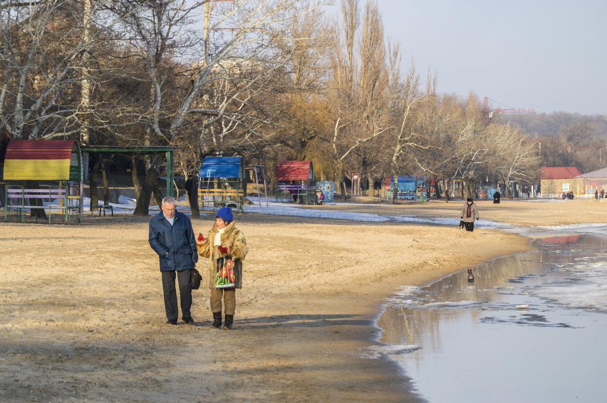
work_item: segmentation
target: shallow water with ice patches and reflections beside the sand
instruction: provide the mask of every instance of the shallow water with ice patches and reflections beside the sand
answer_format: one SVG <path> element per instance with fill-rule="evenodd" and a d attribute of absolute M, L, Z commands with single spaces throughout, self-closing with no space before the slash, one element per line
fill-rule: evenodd
<path fill-rule="evenodd" d="M 532 245 L 387 303 L 381 341 L 420 401 L 605 401 L 607 237 Z"/>

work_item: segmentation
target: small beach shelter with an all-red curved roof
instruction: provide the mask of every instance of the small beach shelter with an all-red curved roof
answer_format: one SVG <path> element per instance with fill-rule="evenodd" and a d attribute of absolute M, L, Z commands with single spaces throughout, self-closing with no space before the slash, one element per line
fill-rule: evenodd
<path fill-rule="evenodd" d="M 276 202 L 314 204 L 314 167 L 311 161 L 279 161 L 276 164 Z"/>

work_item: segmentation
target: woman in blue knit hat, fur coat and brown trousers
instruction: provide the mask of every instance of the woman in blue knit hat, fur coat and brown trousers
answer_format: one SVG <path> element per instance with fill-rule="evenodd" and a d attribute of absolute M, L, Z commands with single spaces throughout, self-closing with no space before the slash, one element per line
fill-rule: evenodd
<path fill-rule="evenodd" d="M 214 328 L 222 327 L 222 298 L 225 311 L 224 329 L 231 329 L 236 311 L 236 289 L 242 288 L 242 260 L 248 252 L 245 235 L 234 226 L 234 217 L 229 207 L 217 210 L 215 224 L 211 227 L 206 238 L 198 236 L 196 241 L 198 255 L 207 258 L 206 285 L 211 289 L 211 312 Z M 234 287 L 215 287 L 217 275 L 217 259 L 224 255 L 234 260 Z"/>

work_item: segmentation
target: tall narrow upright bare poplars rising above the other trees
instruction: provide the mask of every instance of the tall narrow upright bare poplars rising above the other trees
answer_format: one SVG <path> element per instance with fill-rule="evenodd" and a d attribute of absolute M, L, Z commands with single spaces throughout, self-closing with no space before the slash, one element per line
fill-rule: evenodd
<path fill-rule="evenodd" d="M 362 174 L 369 176 L 368 171 L 376 165 L 370 155 L 375 153 L 370 151 L 375 140 L 386 133 L 389 120 L 384 27 L 377 2 L 365 5 L 360 36 L 358 0 L 342 0 L 342 18 L 342 31 L 336 32 L 334 38 L 332 89 L 328 94 L 333 133 L 327 141 L 345 199 L 343 178 L 348 165 L 356 164 Z"/>

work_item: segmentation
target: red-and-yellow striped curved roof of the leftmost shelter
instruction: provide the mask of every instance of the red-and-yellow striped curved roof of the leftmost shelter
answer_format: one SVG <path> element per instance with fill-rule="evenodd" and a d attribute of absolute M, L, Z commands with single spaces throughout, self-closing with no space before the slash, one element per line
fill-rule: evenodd
<path fill-rule="evenodd" d="M 5 181 L 80 181 L 80 147 L 74 140 L 10 140 Z"/>

